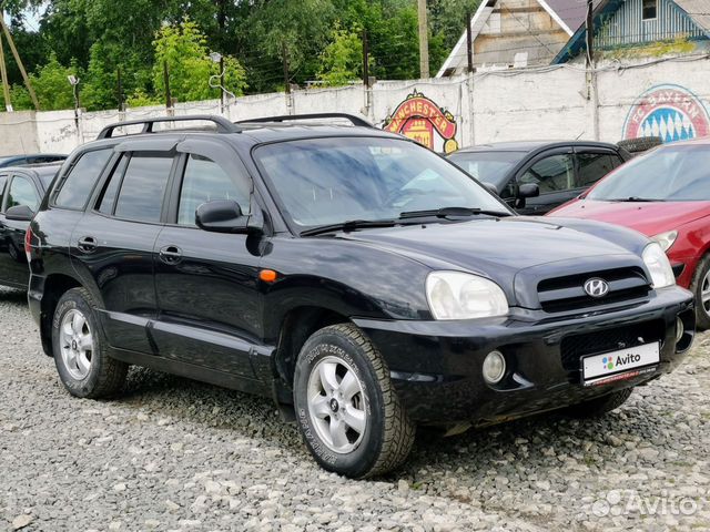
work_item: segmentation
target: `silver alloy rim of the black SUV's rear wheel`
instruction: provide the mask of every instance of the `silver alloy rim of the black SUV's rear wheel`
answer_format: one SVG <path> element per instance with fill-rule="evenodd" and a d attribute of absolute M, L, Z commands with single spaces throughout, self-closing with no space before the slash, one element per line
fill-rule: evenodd
<path fill-rule="evenodd" d="M 59 341 L 62 361 L 69 375 L 75 380 L 85 379 L 93 358 L 93 335 L 81 311 L 72 309 L 64 315 L 59 329 Z"/>

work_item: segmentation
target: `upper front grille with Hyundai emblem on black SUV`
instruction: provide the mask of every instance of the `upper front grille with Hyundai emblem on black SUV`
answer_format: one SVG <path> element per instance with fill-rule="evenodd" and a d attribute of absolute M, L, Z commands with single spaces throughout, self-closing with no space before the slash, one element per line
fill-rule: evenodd
<path fill-rule="evenodd" d="M 595 298 L 585 291 L 585 283 L 595 277 L 609 284 L 605 297 Z M 651 291 L 651 285 L 641 268 L 630 267 L 545 279 L 537 291 L 542 310 L 565 313 L 642 299 Z"/>

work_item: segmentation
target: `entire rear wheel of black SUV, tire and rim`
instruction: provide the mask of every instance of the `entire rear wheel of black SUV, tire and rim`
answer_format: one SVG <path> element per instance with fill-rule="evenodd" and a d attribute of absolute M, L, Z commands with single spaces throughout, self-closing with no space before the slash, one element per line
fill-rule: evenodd
<path fill-rule="evenodd" d="M 119 392 L 129 369 L 109 356 L 94 308 L 87 289 L 72 288 L 60 298 L 52 319 L 52 352 L 59 377 L 72 396 L 90 399 Z"/>

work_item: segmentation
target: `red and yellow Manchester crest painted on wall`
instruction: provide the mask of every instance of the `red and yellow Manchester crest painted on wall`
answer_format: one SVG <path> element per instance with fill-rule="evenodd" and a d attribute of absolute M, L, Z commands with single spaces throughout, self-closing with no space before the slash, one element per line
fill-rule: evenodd
<path fill-rule="evenodd" d="M 436 152 L 458 150 L 456 119 L 420 92 L 414 91 L 385 120 L 384 130 L 402 133 Z"/>

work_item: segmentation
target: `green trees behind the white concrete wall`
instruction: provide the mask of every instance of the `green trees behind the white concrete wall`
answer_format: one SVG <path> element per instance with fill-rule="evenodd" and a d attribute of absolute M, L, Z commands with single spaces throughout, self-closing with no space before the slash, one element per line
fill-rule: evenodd
<path fill-rule="evenodd" d="M 479 1 L 427 0 L 432 72 L 464 31 L 465 13 Z M 237 95 L 283 90 L 284 60 L 290 83 L 346 84 L 363 75 L 363 30 L 371 75 L 419 75 L 414 0 L 0 0 L 0 6 L 11 17 L 20 53 L 48 110 L 73 108 L 69 73 L 81 78 L 82 106 L 116 109 L 119 70 L 125 103 L 162 104 L 163 61 L 175 99 L 219 98 L 220 91 L 209 86 L 220 73 L 207 58 L 211 51 L 224 55 L 224 84 Z M 41 13 L 39 31 L 28 22 L 28 9 Z M 8 68 L 13 106 L 31 109 L 11 57 Z"/>

